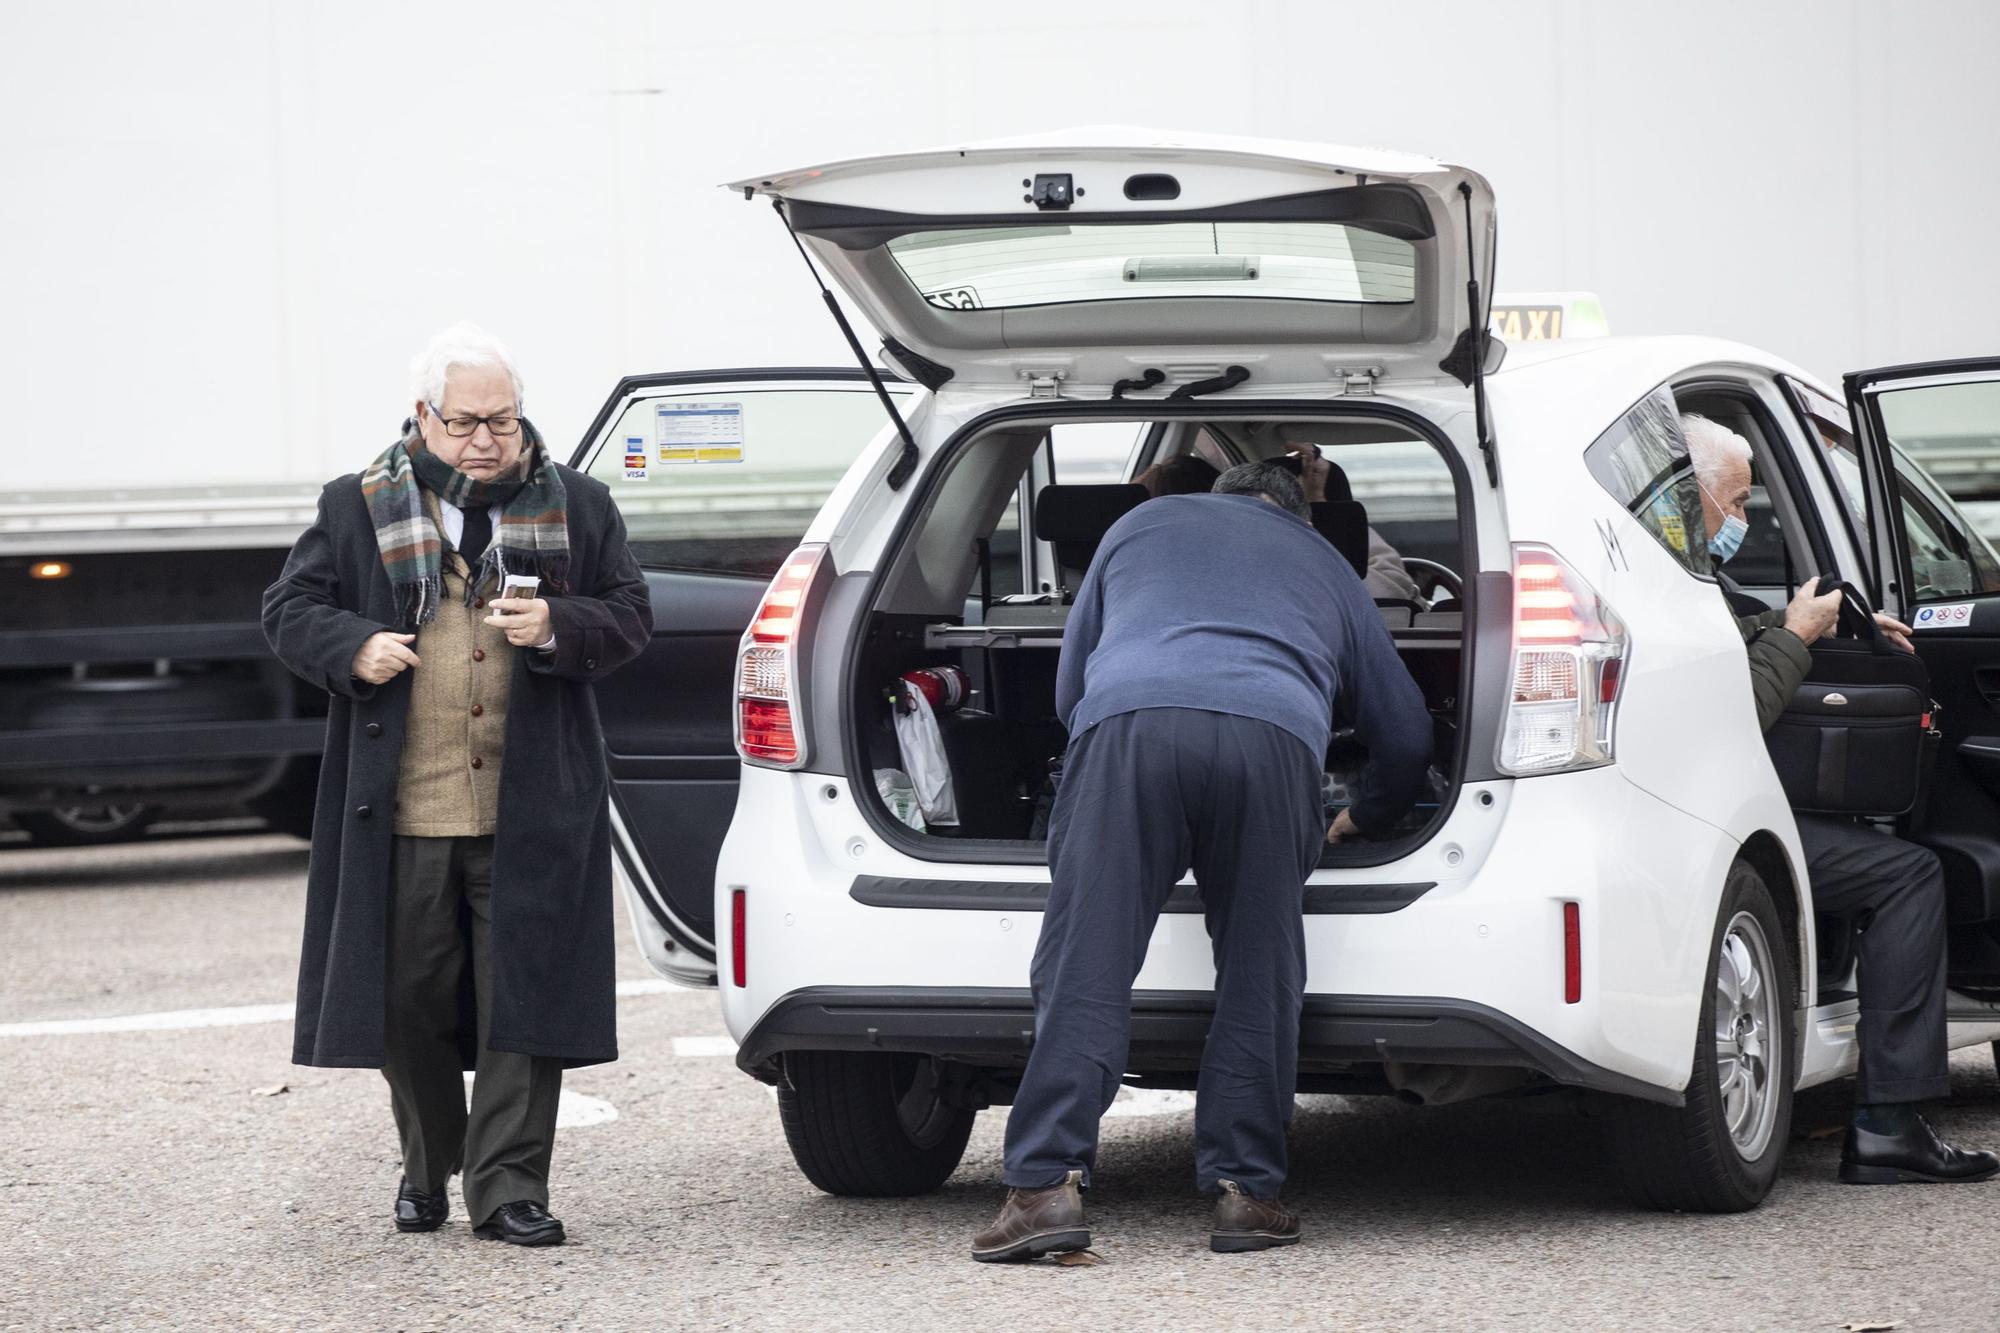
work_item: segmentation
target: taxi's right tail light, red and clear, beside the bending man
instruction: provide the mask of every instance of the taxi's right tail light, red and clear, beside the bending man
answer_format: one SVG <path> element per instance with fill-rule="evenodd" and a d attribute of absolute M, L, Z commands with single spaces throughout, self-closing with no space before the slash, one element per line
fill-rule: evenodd
<path fill-rule="evenodd" d="M 1500 771 L 1568 773 L 1612 761 L 1624 620 L 1546 546 L 1514 546 L 1514 671 Z"/>

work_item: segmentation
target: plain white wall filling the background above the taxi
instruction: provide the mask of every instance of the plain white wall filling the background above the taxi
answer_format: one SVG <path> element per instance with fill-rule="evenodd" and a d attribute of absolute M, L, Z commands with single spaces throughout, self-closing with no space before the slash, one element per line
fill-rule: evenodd
<path fill-rule="evenodd" d="M 1428 152 L 1500 288 L 1822 374 L 2000 352 L 2000 4 L 0 0 L 6 488 L 322 478 L 472 318 L 624 372 L 840 362 L 716 182 L 1126 122 Z"/>

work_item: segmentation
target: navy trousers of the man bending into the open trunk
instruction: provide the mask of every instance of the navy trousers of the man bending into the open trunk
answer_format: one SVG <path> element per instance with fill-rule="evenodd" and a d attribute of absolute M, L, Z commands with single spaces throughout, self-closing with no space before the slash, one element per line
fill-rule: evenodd
<path fill-rule="evenodd" d="M 1070 745 L 1034 947 L 1034 1049 L 1006 1123 L 1008 1185 L 1042 1189 L 1074 1169 L 1090 1183 L 1098 1119 L 1126 1073 L 1132 981 L 1192 867 L 1216 959 L 1196 1185 L 1278 1197 L 1306 991 L 1300 909 L 1324 839 L 1320 757 L 1270 723 L 1144 709 Z"/>

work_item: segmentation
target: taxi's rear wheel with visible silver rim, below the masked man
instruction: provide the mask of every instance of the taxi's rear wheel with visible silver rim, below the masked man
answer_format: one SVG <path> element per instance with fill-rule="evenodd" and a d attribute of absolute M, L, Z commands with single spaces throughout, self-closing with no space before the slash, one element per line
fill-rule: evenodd
<path fill-rule="evenodd" d="M 1756 987 L 1742 985 L 1746 979 Z M 1742 999 L 1726 999 L 1732 991 Z M 1618 1099 L 1610 1115 L 1618 1171 L 1640 1203 L 1682 1213 L 1746 1213 L 1764 1201 L 1792 1137 L 1796 1003 L 1798 985 L 1770 889 L 1738 861 L 1722 887 L 1710 939 L 1686 1105 Z M 1728 1035 L 1716 1029 L 1718 1007 L 1736 1013 L 1734 1021 L 1724 1019 Z"/>

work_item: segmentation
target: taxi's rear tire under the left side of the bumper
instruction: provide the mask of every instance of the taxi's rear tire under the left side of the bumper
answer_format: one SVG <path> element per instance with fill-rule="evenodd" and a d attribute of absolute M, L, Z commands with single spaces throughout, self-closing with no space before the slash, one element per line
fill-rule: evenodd
<path fill-rule="evenodd" d="M 974 1111 L 938 1099 L 936 1065 L 920 1055 L 796 1051 L 786 1067 L 784 1141 L 830 1195 L 928 1195 L 966 1155 Z"/>

